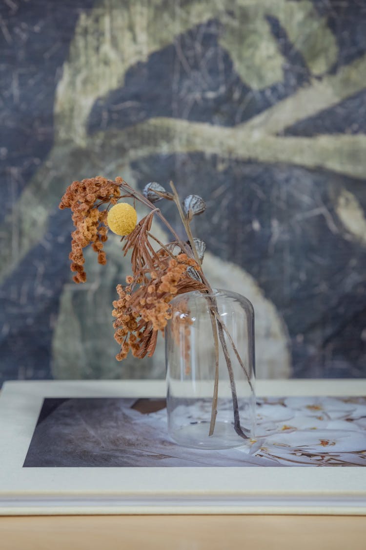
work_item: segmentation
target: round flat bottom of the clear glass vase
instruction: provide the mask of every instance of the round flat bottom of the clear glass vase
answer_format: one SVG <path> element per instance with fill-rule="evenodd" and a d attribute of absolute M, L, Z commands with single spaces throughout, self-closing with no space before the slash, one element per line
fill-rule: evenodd
<path fill-rule="evenodd" d="M 178 430 L 170 430 L 169 433 L 175 443 L 193 449 L 232 449 L 242 447 L 250 441 L 250 438 L 238 436 L 230 422 L 216 421 L 212 436 L 209 436 L 209 431 L 210 422 L 197 422 L 182 426 Z"/>

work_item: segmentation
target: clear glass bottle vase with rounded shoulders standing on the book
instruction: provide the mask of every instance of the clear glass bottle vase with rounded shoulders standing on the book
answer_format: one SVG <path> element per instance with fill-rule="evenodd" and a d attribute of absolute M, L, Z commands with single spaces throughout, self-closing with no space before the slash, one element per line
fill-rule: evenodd
<path fill-rule="evenodd" d="M 255 430 L 254 310 L 227 290 L 171 301 L 165 329 L 167 416 L 185 447 L 245 445 Z"/>

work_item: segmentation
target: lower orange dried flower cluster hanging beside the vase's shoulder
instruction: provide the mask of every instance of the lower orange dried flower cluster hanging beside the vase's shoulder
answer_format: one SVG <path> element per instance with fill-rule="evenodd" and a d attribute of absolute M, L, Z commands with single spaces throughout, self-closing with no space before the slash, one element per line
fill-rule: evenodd
<path fill-rule="evenodd" d="M 165 250 L 156 253 L 158 261 L 154 269 L 145 272 L 143 277 L 137 273 L 126 278 L 127 286 L 117 287 L 119 300 L 114 301 L 115 309 L 112 315 L 115 339 L 121 344 L 121 351 L 116 359 L 125 359 L 131 350 L 135 357 L 151 356 L 154 353 L 157 334 L 164 331 L 168 319 L 171 318 L 171 299 L 182 292 L 202 289 L 204 285 L 189 277 L 187 267 L 196 270 L 200 267 L 195 260 L 186 254 L 171 258 Z M 148 277 L 149 274 L 149 277 Z M 132 287 L 142 282 L 133 292 Z"/>

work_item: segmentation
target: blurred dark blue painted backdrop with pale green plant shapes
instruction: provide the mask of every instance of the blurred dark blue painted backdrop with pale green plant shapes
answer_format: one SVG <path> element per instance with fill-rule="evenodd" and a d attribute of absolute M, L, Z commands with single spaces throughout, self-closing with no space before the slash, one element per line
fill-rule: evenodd
<path fill-rule="evenodd" d="M 164 342 L 114 359 L 119 238 L 72 283 L 58 204 L 94 175 L 204 197 L 259 377 L 366 376 L 365 131 L 364 0 L 2 0 L 1 381 L 165 376 Z"/>

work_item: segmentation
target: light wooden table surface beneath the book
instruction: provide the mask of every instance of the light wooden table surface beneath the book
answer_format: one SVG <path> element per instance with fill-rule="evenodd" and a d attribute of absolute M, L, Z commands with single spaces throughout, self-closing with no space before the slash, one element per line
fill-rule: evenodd
<path fill-rule="evenodd" d="M 365 516 L 0 518 L 1 550 L 365 550 Z"/>

